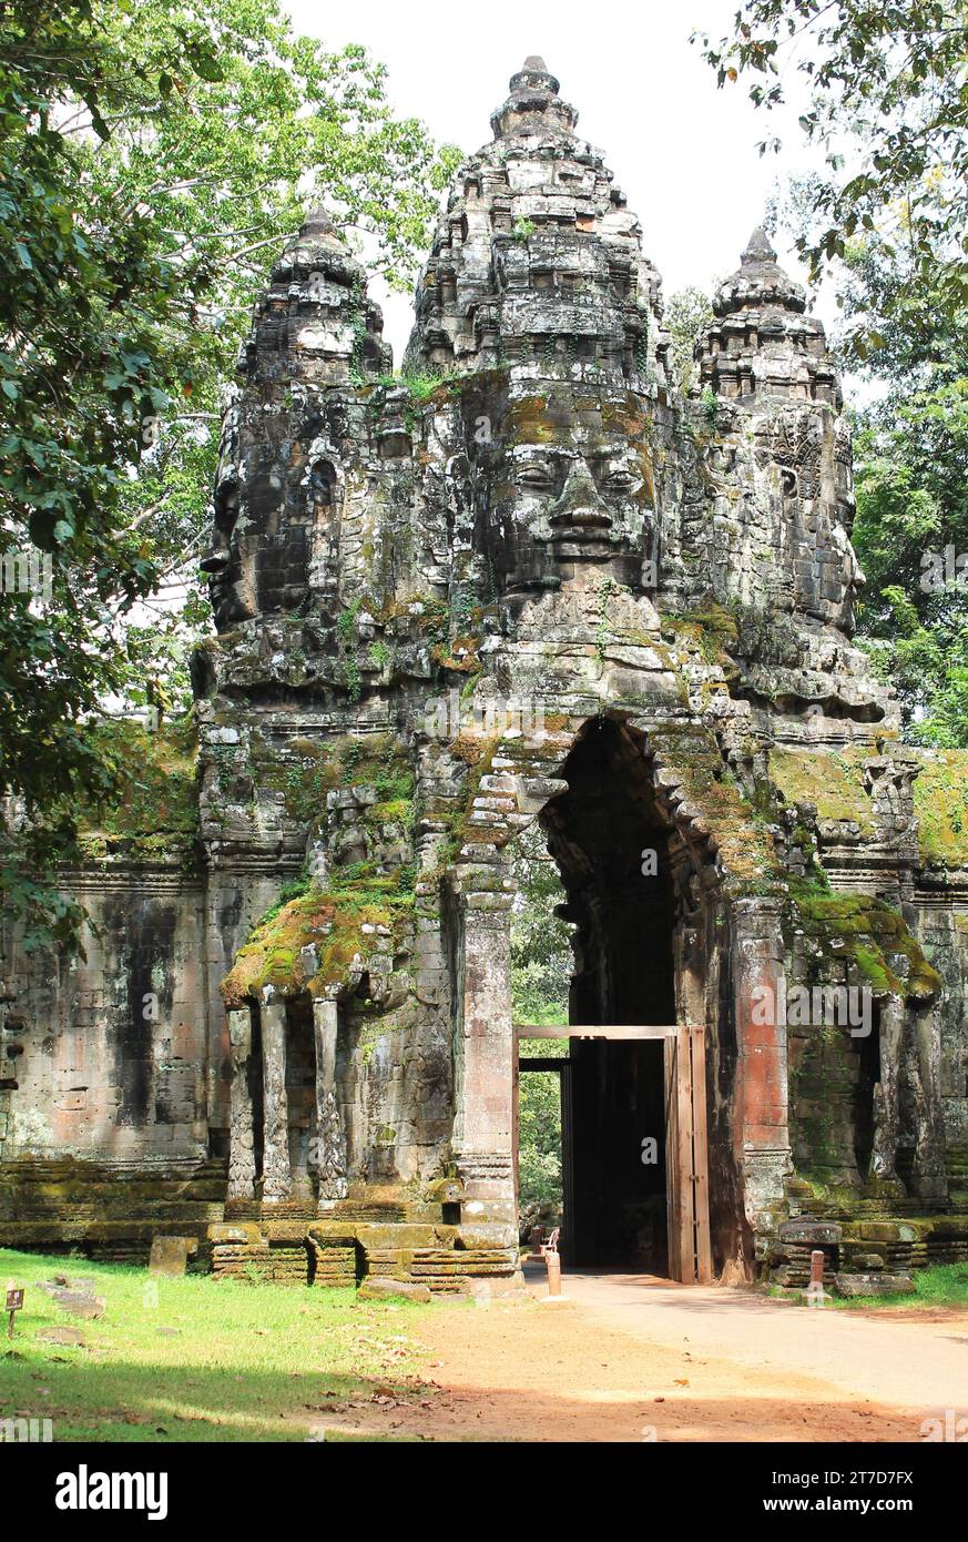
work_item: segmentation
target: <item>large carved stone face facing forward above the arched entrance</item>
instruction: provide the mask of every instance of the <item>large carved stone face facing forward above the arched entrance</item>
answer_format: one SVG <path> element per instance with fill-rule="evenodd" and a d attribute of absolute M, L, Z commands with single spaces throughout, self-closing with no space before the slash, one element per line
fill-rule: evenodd
<path fill-rule="evenodd" d="M 644 419 L 626 402 L 556 387 L 507 407 L 478 540 L 504 588 L 555 588 L 592 564 L 632 588 L 654 558 L 655 497 Z"/>

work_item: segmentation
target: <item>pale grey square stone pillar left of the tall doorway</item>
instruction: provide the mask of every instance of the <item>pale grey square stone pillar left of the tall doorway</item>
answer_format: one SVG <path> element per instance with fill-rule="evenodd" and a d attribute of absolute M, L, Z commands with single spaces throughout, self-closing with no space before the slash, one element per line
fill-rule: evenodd
<path fill-rule="evenodd" d="M 455 1152 L 466 1203 L 462 1226 L 482 1243 L 513 1247 L 513 1075 L 510 894 L 470 893 L 462 907 L 461 1019 L 456 1045 Z"/>

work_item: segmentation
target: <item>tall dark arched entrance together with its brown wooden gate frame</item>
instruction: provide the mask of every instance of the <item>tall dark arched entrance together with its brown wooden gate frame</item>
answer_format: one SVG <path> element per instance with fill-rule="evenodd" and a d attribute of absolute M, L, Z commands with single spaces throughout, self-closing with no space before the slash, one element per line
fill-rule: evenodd
<path fill-rule="evenodd" d="M 524 1070 L 561 1082 L 566 1263 L 708 1280 L 704 1030 L 683 931 L 694 865 L 657 794 L 641 737 L 590 722 L 539 816 L 573 927 L 567 1036 L 558 1061 Z M 678 968 L 677 968 L 678 961 Z M 698 984 L 698 988 L 697 988 Z M 515 1121 L 516 1126 L 516 1121 Z"/>

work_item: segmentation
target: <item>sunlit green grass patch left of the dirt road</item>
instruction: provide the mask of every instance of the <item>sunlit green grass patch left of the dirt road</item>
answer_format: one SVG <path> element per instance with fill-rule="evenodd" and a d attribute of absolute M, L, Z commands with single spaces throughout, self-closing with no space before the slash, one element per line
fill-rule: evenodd
<path fill-rule="evenodd" d="M 62 1272 L 96 1280 L 99 1321 L 35 1288 Z M 418 1366 L 413 1303 L 187 1275 L 151 1280 L 153 1306 L 148 1281 L 146 1269 L 0 1249 L 0 1284 L 26 1288 L 12 1343 L 0 1337 L 0 1419 L 51 1419 L 55 1442 L 302 1442 L 321 1426 L 339 1439 L 327 1414 L 359 1425 L 345 1403 L 402 1391 Z M 48 1326 L 80 1328 L 86 1348 L 39 1342 Z"/>

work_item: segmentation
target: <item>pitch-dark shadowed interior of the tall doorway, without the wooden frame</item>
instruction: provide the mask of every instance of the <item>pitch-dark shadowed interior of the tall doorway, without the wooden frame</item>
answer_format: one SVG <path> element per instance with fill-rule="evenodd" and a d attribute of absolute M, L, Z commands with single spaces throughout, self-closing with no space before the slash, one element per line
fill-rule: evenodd
<path fill-rule="evenodd" d="M 677 847 L 641 740 L 595 720 L 541 814 L 573 927 L 569 1022 L 620 1029 L 675 1016 Z M 563 1099 L 564 1261 L 667 1274 L 666 1093 L 661 1041 L 569 1045 Z"/>

